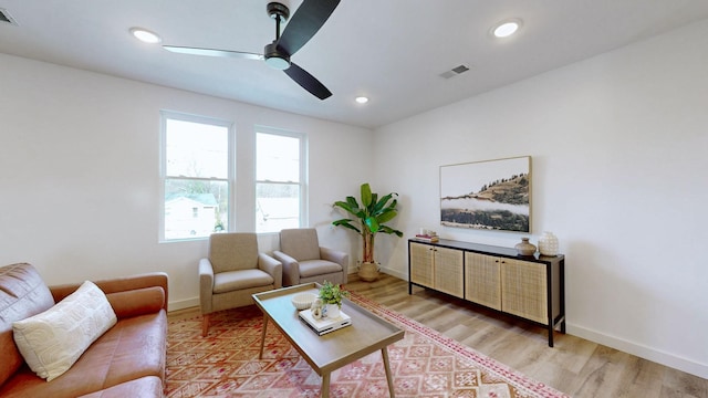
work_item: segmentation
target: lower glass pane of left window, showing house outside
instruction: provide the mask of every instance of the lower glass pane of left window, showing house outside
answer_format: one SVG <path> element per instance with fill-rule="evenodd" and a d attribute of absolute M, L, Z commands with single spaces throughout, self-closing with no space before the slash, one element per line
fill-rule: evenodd
<path fill-rule="evenodd" d="M 167 178 L 165 239 L 208 237 L 228 230 L 227 181 Z"/>

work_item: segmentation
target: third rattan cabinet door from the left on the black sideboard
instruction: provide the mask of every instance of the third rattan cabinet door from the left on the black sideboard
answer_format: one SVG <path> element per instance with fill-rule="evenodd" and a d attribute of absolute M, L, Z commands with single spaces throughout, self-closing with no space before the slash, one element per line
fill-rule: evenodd
<path fill-rule="evenodd" d="M 501 259 L 465 253 L 465 298 L 501 310 Z"/>

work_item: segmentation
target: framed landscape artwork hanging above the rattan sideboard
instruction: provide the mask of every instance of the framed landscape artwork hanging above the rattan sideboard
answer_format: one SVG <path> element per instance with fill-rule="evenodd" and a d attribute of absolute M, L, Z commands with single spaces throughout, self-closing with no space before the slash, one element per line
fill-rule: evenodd
<path fill-rule="evenodd" d="M 440 224 L 531 231 L 531 157 L 440 166 Z"/>

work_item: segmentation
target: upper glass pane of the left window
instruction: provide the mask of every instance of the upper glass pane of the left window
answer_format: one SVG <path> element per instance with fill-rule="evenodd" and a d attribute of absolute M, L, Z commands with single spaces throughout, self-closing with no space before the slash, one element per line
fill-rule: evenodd
<path fill-rule="evenodd" d="M 166 174 L 228 178 L 229 128 L 166 119 Z"/>

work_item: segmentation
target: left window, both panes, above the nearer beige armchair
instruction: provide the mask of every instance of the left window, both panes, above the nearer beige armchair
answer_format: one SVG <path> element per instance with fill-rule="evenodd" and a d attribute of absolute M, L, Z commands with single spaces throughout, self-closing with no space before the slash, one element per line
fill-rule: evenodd
<path fill-rule="evenodd" d="M 162 113 L 162 241 L 228 230 L 231 124 Z"/>

